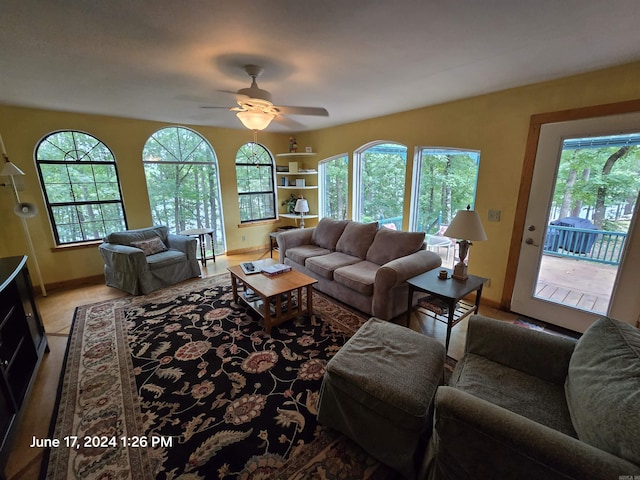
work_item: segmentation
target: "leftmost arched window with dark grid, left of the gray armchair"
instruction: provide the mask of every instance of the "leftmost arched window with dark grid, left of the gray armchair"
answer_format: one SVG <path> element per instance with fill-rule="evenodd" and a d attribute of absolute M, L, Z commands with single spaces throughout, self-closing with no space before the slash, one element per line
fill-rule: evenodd
<path fill-rule="evenodd" d="M 51 133 L 36 148 L 36 166 L 56 245 L 127 228 L 116 160 L 100 140 L 76 131 Z"/>

